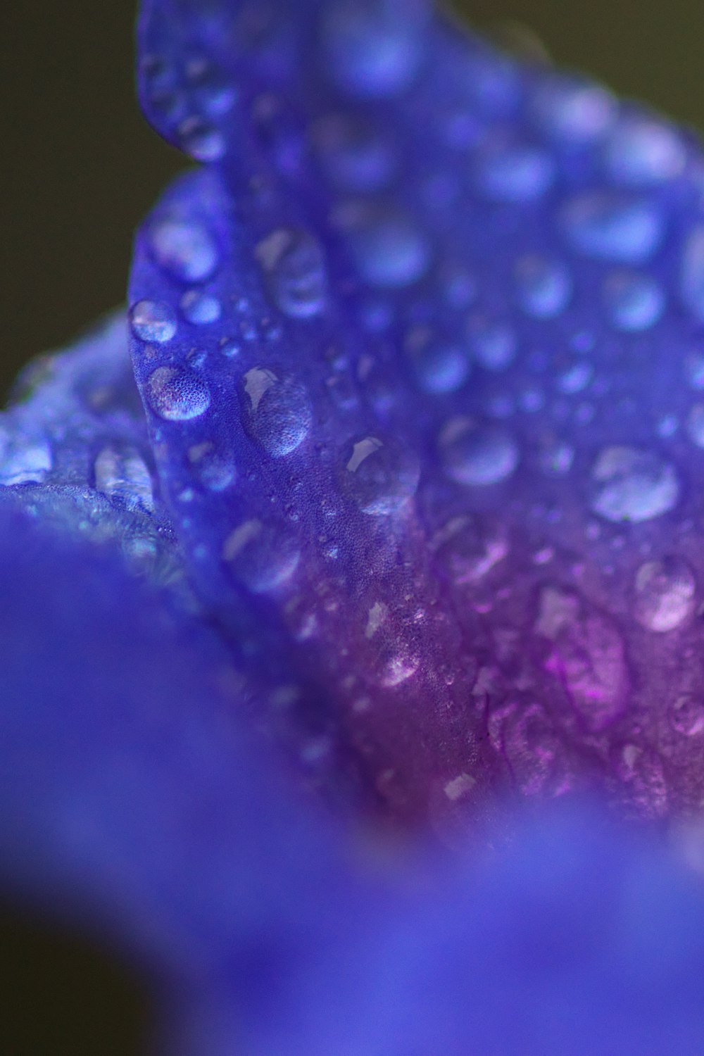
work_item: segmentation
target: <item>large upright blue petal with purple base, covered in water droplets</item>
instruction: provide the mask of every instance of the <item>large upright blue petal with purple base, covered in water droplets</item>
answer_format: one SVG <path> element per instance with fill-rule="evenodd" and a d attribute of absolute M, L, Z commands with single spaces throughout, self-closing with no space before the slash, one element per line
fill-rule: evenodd
<path fill-rule="evenodd" d="M 393 817 L 697 809 L 697 145 L 421 3 L 153 0 L 139 40 L 204 163 L 130 286 L 201 597 L 275 628 Z"/>

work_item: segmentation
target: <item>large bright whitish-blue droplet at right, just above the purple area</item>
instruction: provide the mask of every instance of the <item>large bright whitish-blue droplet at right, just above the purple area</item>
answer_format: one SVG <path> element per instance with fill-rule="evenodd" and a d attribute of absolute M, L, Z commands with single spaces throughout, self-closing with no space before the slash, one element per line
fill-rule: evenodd
<path fill-rule="evenodd" d="M 592 468 L 590 507 L 607 521 L 640 524 L 672 510 L 680 478 L 671 463 L 638 448 L 610 447 Z"/>

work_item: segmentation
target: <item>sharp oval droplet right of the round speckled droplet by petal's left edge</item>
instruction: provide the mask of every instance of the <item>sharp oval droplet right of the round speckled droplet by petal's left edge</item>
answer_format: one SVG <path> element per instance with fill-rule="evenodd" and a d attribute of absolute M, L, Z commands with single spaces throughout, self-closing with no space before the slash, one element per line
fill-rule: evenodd
<path fill-rule="evenodd" d="M 241 399 L 245 432 L 274 458 L 296 451 L 310 432 L 308 395 L 292 378 L 253 366 L 242 380 Z"/>

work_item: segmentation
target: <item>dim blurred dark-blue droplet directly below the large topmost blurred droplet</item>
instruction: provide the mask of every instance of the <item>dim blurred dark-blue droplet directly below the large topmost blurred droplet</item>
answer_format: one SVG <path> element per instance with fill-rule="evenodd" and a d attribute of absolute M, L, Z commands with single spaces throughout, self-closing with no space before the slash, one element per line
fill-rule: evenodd
<path fill-rule="evenodd" d="M 346 114 L 320 120 L 312 139 L 328 180 L 344 191 L 378 191 L 397 166 L 388 139 L 370 126 Z"/>

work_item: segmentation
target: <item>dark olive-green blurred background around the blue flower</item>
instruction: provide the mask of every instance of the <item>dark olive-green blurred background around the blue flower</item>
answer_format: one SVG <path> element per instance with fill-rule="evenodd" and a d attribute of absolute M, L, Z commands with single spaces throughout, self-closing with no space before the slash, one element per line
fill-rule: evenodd
<path fill-rule="evenodd" d="M 531 27 L 554 61 L 704 128 L 701 0 L 464 0 Z M 9 0 L 0 23 L 0 389 L 123 297 L 131 232 L 179 165 L 141 121 L 130 0 Z M 1 602 L 0 602 L 1 603 Z M 0 1049 L 134 1056 L 144 1006 L 88 940 L 0 920 Z"/>

